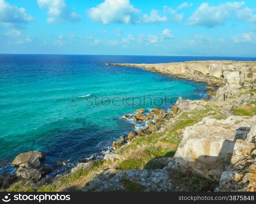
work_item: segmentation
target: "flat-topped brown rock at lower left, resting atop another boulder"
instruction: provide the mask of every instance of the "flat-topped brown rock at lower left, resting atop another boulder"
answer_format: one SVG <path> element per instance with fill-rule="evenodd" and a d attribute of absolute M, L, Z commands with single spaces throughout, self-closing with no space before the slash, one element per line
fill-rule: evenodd
<path fill-rule="evenodd" d="M 45 153 L 41 151 L 29 151 L 20 153 L 13 160 L 12 164 L 32 169 L 39 169 L 41 162 L 45 159 Z"/>

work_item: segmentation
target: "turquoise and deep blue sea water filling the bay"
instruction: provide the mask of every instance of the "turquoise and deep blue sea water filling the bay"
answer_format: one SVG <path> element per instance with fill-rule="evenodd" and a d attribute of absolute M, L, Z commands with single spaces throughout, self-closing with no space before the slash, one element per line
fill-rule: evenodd
<path fill-rule="evenodd" d="M 100 157 L 112 142 L 134 129 L 120 119 L 135 109 L 86 106 L 88 97 L 206 97 L 204 83 L 104 62 L 158 63 L 206 60 L 195 57 L 0 55 L 0 171 L 21 152 L 40 150 L 47 163 L 70 166 Z M 211 58 L 212 59 L 212 58 Z M 222 58 L 221 58 L 222 59 Z M 252 60 L 252 59 L 248 59 Z M 120 102 L 122 100 L 116 100 Z M 108 100 L 105 100 L 105 104 Z M 68 105 L 70 104 L 70 105 Z M 167 109 L 171 104 L 160 104 Z M 137 127 L 137 126 L 136 126 Z"/>

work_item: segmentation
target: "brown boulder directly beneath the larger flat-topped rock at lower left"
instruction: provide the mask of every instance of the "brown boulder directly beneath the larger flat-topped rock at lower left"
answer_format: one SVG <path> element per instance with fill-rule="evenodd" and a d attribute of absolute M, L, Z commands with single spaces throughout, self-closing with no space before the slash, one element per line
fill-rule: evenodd
<path fill-rule="evenodd" d="M 41 178 L 41 174 L 38 169 L 31 169 L 28 167 L 20 167 L 16 171 L 16 176 L 19 180 L 22 180 L 22 179 L 39 180 Z"/>

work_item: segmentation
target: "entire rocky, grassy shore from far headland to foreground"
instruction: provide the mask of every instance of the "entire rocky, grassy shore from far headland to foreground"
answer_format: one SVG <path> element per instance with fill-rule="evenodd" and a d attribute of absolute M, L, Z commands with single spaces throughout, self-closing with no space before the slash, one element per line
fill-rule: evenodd
<path fill-rule="evenodd" d="M 256 191 L 256 62 L 106 65 L 207 82 L 211 99 L 127 113 L 124 120 L 147 127 L 121 135 L 103 160 L 61 178 L 47 178 L 53 169 L 43 168 L 44 153 L 22 153 L 13 161 L 16 175 L 0 177 L 4 191 Z"/>

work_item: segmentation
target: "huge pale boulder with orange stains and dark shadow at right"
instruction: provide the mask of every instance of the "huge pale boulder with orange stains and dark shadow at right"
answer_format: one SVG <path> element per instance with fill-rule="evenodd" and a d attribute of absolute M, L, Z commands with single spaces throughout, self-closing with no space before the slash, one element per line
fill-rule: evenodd
<path fill-rule="evenodd" d="M 219 180 L 231 165 L 232 155 L 249 154 L 255 143 L 237 140 L 238 130 L 256 120 L 230 116 L 226 120 L 206 117 L 202 122 L 186 127 L 175 153 L 175 164 L 181 171 L 192 171 L 212 180 Z M 245 138 L 247 131 L 244 132 Z M 243 138 L 243 139 L 245 139 Z"/>

